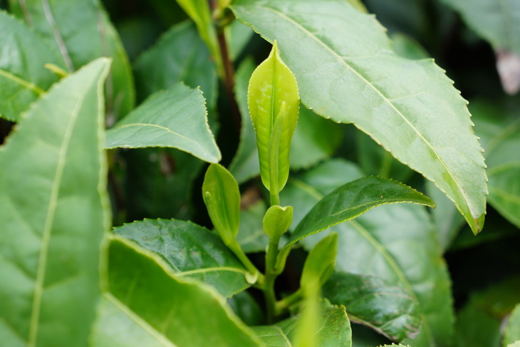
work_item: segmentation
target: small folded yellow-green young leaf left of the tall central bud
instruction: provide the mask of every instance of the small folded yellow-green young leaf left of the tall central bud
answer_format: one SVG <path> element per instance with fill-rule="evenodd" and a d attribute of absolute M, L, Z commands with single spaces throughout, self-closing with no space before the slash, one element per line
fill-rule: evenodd
<path fill-rule="evenodd" d="M 202 197 L 222 241 L 224 244 L 231 244 L 240 226 L 238 183 L 222 165 L 209 165 L 202 184 Z"/>

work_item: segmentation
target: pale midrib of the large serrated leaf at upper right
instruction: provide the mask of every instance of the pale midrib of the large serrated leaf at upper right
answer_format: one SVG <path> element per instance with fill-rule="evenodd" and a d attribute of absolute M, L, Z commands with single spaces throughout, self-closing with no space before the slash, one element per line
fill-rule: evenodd
<path fill-rule="evenodd" d="M 449 170 L 449 168 L 447 167 L 447 165 L 444 163 L 444 160 L 442 160 L 442 158 L 440 157 L 439 153 L 437 153 L 437 151 L 435 150 L 434 147 L 432 147 L 432 145 L 421 135 L 421 133 L 417 130 L 417 128 L 415 128 L 414 125 L 412 125 L 412 123 L 410 123 L 410 121 L 405 117 L 405 115 L 403 115 L 399 109 L 397 109 L 397 107 L 390 101 L 390 99 L 388 99 L 380 90 L 378 90 L 378 88 L 376 88 L 372 83 L 370 83 L 370 81 L 368 81 L 363 75 L 361 75 L 358 71 L 356 71 L 352 66 L 350 66 L 346 61 L 343 60 L 343 58 L 341 58 L 341 56 L 339 56 L 335 51 L 333 51 L 326 43 L 324 43 L 323 41 L 321 41 L 318 37 L 316 37 L 313 33 L 311 33 L 311 31 L 308 31 L 304 26 L 302 26 L 301 24 L 299 24 L 297 21 L 293 20 L 291 17 L 287 16 L 286 14 L 284 14 L 283 12 L 280 12 L 280 11 L 277 11 L 276 9 L 272 9 L 271 7 L 266 7 L 266 6 L 259 6 L 263 9 L 266 9 L 268 11 L 271 11 L 273 12 L 274 14 L 280 16 L 282 19 L 286 19 L 287 21 L 291 22 L 294 26 L 296 26 L 297 28 L 301 29 L 301 31 L 303 31 L 304 33 L 306 33 L 309 37 L 313 38 L 314 41 L 318 42 L 321 46 L 323 46 L 324 48 L 326 48 L 327 51 L 329 51 L 332 56 L 334 58 L 337 58 L 338 61 L 340 61 L 340 63 L 342 63 L 344 66 L 346 66 L 348 68 L 348 70 L 352 71 L 353 73 L 355 73 L 356 76 L 358 76 L 362 81 L 364 81 L 366 83 L 367 86 L 369 86 L 370 88 L 372 88 L 375 93 L 377 93 L 378 95 L 380 95 L 380 98 L 383 99 L 383 101 L 385 103 L 387 103 L 388 105 L 390 105 L 390 107 L 395 110 L 395 113 L 397 113 L 397 115 L 399 115 L 403 120 L 405 120 L 405 123 L 407 123 L 407 125 L 410 126 L 410 128 L 412 128 L 412 130 L 419 136 L 419 138 L 427 145 L 427 147 L 430 147 L 430 150 L 432 150 L 432 152 L 435 154 L 435 156 L 437 157 L 437 159 L 439 160 L 439 162 L 442 164 L 442 166 L 444 167 L 444 169 L 447 171 L 447 173 L 449 174 L 449 177 L 452 179 L 452 181 L 455 183 L 455 185 L 457 185 L 457 188 L 459 190 L 459 193 L 462 194 L 462 196 L 464 197 L 464 201 L 466 202 L 467 204 L 467 207 L 469 207 L 470 211 L 472 209 L 472 206 L 469 204 L 469 200 L 467 198 L 467 195 L 465 193 L 464 190 L 462 190 L 462 187 L 459 185 L 459 182 L 455 179 L 454 175 L 452 174 L 451 170 Z"/>

